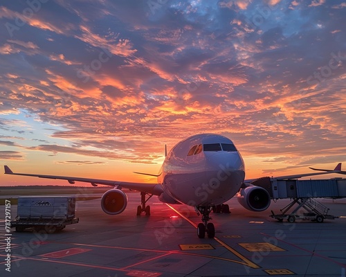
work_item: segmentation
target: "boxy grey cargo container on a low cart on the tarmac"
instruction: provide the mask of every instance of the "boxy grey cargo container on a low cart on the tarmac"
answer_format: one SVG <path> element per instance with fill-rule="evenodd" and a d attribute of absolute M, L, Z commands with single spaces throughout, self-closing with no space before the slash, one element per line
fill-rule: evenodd
<path fill-rule="evenodd" d="M 53 233 L 78 222 L 78 217 L 75 217 L 75 197 L 28 196 L 18 198 L 17 217 L 11 221 L 11 227 L 15 227 L 17 232 L 33 228 L 35 231 Z"/>

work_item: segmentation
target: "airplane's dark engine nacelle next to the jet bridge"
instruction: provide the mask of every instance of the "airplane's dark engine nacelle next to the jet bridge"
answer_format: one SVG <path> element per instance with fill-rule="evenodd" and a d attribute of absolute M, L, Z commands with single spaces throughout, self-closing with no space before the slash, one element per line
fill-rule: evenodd
<path fill-rule="evenodd" d="M 242 188 L 237 194 L 238 202 L 250 211 L 265 211 L 271 204 L 271 197 L 264 188 L 260 186 L 248 186 Z"/>

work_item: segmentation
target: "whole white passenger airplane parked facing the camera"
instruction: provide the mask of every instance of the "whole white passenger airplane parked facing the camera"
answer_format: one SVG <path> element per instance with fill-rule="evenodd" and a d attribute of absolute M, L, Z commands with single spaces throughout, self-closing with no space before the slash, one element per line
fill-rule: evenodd
<path fill-rule="evenodd" d="M 66 177 L 55 175 L 37 175 L 15 173 L 5 166 L 5 174 L 39 177 L 46 179 L 62 179 L 75 184 L 75 181 L 91 183 L 92 186 L 113 186 L 101 198 L 104 213 L 118 215 L 127 206 L 127 195 L 122 188 L 138 190 L 141 195 L 141 205 L 137 215 L 150 215 L 147 201 L 156 195 L 161 202 L 167 204 L 186 204 L 193 206 L 197 215 L 201 215 L 203 223 L 197 226 L 199 238 L 215 237 L 215 226 L 210 212 L 215 206 L 220 206 L 237 195 L 238 202 L 250 211 L 265 211 L 271 204 L 268 191 L 261 186 L 255 186 L 255 180 L 244 180 L 245 166 L 241 154 L 233 141 L 219 134 L 197 134 L 177 143 L 167 154 L 157 175 L 135 172 L 157 177 L 157 183 L 131 183 L 104 179 L 89 179 L 82 177 Z M 313 168 L 314 169 L 314 168 Z M 316 169 L 314 169 L 316 170 Z M 341 164 L 334 170 L 275 177 L 277 180 L 297 179 L 305 176 L 341 173 Z M 253 184 L 252 184 L 253 183 Z M 147 197 L 149 195 L 149 197 Z M 228 205 L 226 210 L 229 212 Z"/>

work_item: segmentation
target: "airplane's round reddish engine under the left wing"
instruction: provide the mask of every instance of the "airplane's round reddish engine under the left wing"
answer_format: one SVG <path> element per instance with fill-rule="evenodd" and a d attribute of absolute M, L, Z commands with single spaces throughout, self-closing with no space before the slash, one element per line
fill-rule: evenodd
<path fill-rule="evenodd" d="M 108 190 L 102 195 L 101 207 L 104 213 L 109 215 L 118 215 L 122 213 L 127 206 L 127 195 L 122 191 L 114 188 Z"/>

